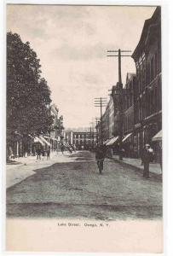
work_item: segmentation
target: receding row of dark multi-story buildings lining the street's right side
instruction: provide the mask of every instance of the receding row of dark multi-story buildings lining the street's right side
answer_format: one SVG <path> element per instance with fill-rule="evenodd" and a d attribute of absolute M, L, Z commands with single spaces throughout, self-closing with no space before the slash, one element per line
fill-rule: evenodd
<path fill-rule="evenodd" d="M 136 74 L 127 73 L 124 87 L 120 83 L 112 86 L 112 96 L 102 116 L 103 143 L 118 149 L 117 137 L 122 137 L 122 147 L 130 157 L 141 157 L 144 144 L 149 143 L 159 160 L 159 143 L 153 137 L 162 130 L 160 7 L 145 20 L 132 58 Z M 97 129 L 101 137 L 101 122 Z M 112 142 L 107 142 L 110 138 Z"/>

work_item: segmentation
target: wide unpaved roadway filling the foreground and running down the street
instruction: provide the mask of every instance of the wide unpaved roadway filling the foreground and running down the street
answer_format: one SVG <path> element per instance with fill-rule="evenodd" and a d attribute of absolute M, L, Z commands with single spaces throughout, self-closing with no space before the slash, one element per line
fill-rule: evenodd
<path fill-rule="evenodd" d="M 146 180 L 139 170 L 107 159 L 99 176 L 95 155 L 88 151 L 55 154 L 51 166 L 46 164 L 28 160 L 16 170 L 33 173 L 8 189 L 8 217 L 112 220 L 162 215 L 162 183 L 155 173 Z"/>

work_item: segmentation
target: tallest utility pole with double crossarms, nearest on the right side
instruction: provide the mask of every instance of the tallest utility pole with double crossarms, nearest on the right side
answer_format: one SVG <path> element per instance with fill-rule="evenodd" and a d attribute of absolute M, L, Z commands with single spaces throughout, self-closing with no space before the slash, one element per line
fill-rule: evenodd
<path fill-rule="evenodd" d="M 121 57 L 130 57 L 131 55 L 121 55 L 121 53 L 130 53 L 131 50 L 107 50 L 109 53 L 117 53 L 117 55 L 107 55 L 107 57 L 118 57 L 118 83 L 116 86 L 112 86 L 112 98 L 114 109 L 116 108 L 116 96 L 118 96 L 118 110 L 119 110 L 119 160 L 123 160 L 122 149 L 123 149 L 123 129 L 124 129 L 124 96 L 127 95 L 127 91 L 124 91 L 122 79 L 121 79 Z"/>

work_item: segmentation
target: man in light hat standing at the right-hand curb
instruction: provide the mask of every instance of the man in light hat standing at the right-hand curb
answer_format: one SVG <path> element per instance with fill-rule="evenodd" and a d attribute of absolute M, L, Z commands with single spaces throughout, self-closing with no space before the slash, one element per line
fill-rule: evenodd
<path fill-rule="evenodd" d="M 141 154 L 141 161 L 143 163 L 143 177 L 149 177 L 149 164 L 153 160 L 153 148 L 146 144 Z"/>

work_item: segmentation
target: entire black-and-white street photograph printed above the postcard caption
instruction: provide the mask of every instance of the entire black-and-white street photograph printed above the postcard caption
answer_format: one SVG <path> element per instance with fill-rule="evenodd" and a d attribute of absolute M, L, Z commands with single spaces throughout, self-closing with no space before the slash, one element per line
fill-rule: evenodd
<path fill-rule="evenodd" d="M 7 218 L 162 219 L 161 7 L 11 4 L 7 28 Z"/>

